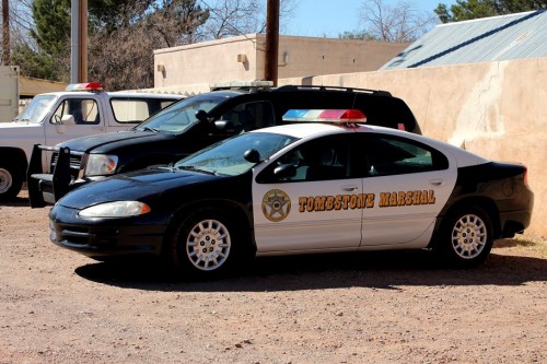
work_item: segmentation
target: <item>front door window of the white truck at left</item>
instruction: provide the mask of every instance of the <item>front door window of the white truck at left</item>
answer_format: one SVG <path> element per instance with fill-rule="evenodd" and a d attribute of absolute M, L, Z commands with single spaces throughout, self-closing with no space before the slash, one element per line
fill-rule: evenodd
<path fill-rule="evenodd" d="M 63 99 L 49 122 L 61 124 L 67 115 L 73 117 L 75 125 L 95 125 L 101 121 L 96 101 L 93 98 L 66 98 Z"/>

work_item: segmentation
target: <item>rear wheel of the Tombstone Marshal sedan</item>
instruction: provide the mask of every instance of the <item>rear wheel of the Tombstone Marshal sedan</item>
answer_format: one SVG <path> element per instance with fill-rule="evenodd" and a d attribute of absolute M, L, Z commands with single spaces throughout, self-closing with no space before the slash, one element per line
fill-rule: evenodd
<path fill-rule="evenodd" d="M 477 207 L 457 209 L 445 218 L 437 250 L 443 262 L 470 268 L 485 261 L 493 244 L 490 218 Z"/>

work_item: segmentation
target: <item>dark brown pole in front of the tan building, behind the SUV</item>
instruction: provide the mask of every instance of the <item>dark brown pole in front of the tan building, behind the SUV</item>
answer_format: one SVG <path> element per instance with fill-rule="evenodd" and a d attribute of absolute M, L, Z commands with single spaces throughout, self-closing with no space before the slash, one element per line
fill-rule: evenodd
<path fill-rule="evenodd" d="M 266 16 L 266 60 L 264 75 L 277 86 L 279 54 L 279 0 L 268 0 Z"/>

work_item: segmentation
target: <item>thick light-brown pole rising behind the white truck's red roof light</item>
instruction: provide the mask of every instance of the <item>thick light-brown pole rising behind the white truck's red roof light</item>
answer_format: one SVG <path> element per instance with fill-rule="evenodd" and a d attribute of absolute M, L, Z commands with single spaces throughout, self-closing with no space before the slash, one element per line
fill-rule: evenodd
<path fill-rule="evenodd" d="M 72 0 L 70 83 L 88 81 L 88 0 Z"/>

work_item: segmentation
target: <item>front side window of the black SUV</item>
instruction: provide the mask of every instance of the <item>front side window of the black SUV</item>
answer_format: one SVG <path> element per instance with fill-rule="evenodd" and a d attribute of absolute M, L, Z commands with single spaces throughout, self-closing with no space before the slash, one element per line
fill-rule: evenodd
<path fill-rule="evenodd" d="M 230 121 L 235 133 L 276 125 L 272 105 L 263 101 L 237 105 L 222 115 L 221 120 Z"/>

